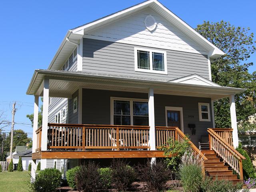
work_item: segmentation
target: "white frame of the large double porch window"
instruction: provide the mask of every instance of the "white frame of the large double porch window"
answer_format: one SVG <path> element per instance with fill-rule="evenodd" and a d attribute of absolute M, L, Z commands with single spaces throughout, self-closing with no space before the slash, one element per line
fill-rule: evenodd
<path fill-rule="evenodd" d="M 148 99 L 124 98 L 124 97 L 110 97 L 110 124 L 114 125 L 114 100 L 130 101 L 130 118 L 131 126 L 133 126 L 133 102 L 148 102 Z"/>

